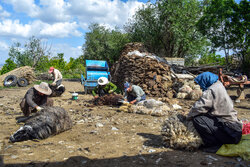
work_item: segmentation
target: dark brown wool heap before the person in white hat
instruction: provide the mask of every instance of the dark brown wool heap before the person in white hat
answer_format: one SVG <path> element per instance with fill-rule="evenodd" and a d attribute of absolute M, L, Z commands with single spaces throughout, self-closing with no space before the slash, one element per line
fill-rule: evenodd
<path fill-rule="evenodd" d="M 95 105 L 112 105 L 112 106 L 118 106 L 121 104 L 121 100 L 123 100 L 122 95 L 118 95 L 115 93 L 112 94 L 106 94 L 104 96 L 101 96 L 94 100 Z"/>

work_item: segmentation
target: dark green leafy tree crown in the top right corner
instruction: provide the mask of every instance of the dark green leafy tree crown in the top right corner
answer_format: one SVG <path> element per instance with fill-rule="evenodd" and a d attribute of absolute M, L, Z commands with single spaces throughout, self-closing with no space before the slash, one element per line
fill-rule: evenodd
<path fill-rule="evenodd" d="M 226 63 L 233 50 L 245 61 L 249 48 L 249 1 L 237 4 L 234 0 L 211 0 L 198 22 L 200 32 L 212 42 L 212 48 L 224 50 Z"/>

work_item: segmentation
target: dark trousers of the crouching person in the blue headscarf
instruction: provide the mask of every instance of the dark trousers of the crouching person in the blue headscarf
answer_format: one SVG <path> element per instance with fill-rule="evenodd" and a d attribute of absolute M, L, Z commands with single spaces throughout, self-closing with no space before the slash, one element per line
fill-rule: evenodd
<path fill-rule="evenodd" d="M 241 124 L 225 122 L 210 115 L 194 117 L 193 124 L 205 147 L 237 144 L 242 136 Z"/>

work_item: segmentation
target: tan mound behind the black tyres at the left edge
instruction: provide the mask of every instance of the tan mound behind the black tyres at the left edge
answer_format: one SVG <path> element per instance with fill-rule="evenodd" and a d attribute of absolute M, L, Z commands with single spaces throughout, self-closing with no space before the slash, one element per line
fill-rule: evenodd
<path fill-rule="evenodd" d="M 4 79 L 8 75 L 15 75 L 17 78 L 25 78 L 29 83 L 32 83 L 36 78 L 34 70 L 30 66 L 23 66 L 1 75 L 0 86 L 3 86 Z"/>

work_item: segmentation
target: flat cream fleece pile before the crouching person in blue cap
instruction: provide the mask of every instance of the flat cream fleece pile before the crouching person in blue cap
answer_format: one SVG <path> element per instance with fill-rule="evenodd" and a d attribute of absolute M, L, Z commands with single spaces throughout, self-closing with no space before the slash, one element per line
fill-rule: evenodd
<path fill-rule="evenodd" d="M 141 101 L 135 105 L 123 103 L 123 105 L 120 106 L 119 111 L 160 117 L 168 115 L 168 111 L 170 111 L 170 108 L 161 101 L 148 99 Z"/>

